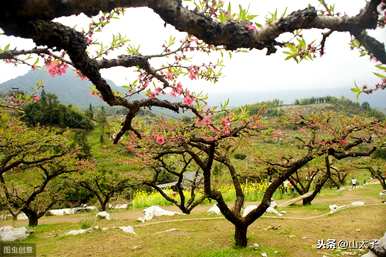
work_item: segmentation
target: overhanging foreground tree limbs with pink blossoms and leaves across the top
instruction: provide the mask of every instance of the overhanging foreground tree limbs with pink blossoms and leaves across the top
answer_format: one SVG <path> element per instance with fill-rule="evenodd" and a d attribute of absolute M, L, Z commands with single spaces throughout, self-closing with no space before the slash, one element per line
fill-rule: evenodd
<path fill-rule="evenodd" d="M 137 46 L 130 44 L 121 34 L 114 35 L 111 45 L 97 42 L 95 35 L 103 33 L 103 28 L 114 18 L 119 18 L 125 8 L 147 7 L 158 14 L 165 24 L 174 26 L 188 36 L 178 41 L 171 37 L 162 46 L 162 52 L 142 55 Z M 16 64 L 27 64 L 36 68 L 43 61 L 48 72 L 63 75 L 69 66 L 74 67 L 81 77 L 95 85 L 94 94 L 111 106 L 128 109 L 122 129 L 115 138 L 117 143 L 128 131 L 140 133 L 133 128 L 132 121 L 140 109 L 161 107 L 175 112 L 191 110 L 199 115 L 198 105 L 205 104 L 200 95 L 193 94 L 181 83 L 181 77 L 205 79 L 216 82 L 222 62 L 193 63 L 190 57 L 198 52 L 236 51 L 239 49 L 266 50 L 268 55 L 283 49 L 287 59 L 300 62 L 313 59 L 325 53 L 325 44 L 332 33 L 350 33 L 351 48 L 359 48 L 378 61 L 377 75 L 382 79 L 375 88 L 356 88 L 354 91 L 371 92 L 385 88 L 386 53 L 384 45 L 368 34 L 368 30 L 381 28 L 385 23 L 385 3 L 382 0 L 364 1 L 362 10 L 354 16 L 335 12 L 334 6 L 320 0 L 317 7 L 305 6 L 289 14 L 272 12 L 265 24 L 256 22 L 247 8 L 239 7 L 238 12 L 224 1 L 17 1 L 6 3 L 0 11 L 0 28 L 5 35 L 31 38 L 33 49 L 12 49 L 5 45 L 0 51 L 0 59 Z M 100 14 L 100 12 L 103 12 Z M 85 31 L 77 31 L 53 21 L 54 18 L 84 13 L 92 17 L 98 15 Z M 303 32 L 310 29 L 322 30 L 321 40 L 306 42 Z M 290 33 L 288 41 L 281 35 Z M 118 57 L 114 50 L 127 49 Z M 120 51 L 119 53 L 122 53 Z M 37 56 L 41 58 L 31 59 Z M 154 67 L 153 60 L 160 60 Z M 133 67 L 138 78 L 126 85 L 127 92 L 113 92 L 108 82 L 102 78 L 100 70 L 113 67 Z M 154 83 L 153 83 L 154 82 Z M 145 93 L 146 99 L 135 100 L 133 96 Z M 163 100 L 159 96 L 169 94 L 179 96 L 182 102 Z"/>

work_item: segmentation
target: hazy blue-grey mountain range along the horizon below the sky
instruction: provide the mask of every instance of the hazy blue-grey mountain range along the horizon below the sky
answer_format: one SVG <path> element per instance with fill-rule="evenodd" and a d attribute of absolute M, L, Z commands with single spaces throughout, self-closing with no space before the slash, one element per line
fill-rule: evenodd
<path fill-rule="evenodd" d="M 8 92 L 13 88 L 18 88 L 25 92 L 31 93 L 35 84 L 38 80 L 43 80 L 45 90 L 58 96 L 59 101 L 64 104 L 77 105 L 81 108 L 85 108 L 92 104 L 94 106 L 106 105 L 103 100 L 99 97 L 90 95 L 91 82 L 88 80 L 81 80 L 79 76 L 73 71 L 68 72 L 63 76 L 51 77 L 45 70 L 30 71 L 27 74 L 17 77 L 12 80 L 8 80 L 0 84 L 0 93 Z M 108 81 L 114 91 L 123 92 L 124 89 L 118 87 L 114 82 Z M 253 92 L 242 92 L 235 91 L 230 93 L 210 93 L 209 104 L 218 105 L 228 98 L 230 99 L 230 105 L 233 107 L 254 104 L 261 101 L 268 101 L 273 99 L 280 99 L 285 104 L 292 104 L 296 99 L 309 98 L 319 96 L 344 96 L 348 99 L 355 101 L 355 95 L 351 92 L 350 88 L 333 88 L 333 89 L 288 89 L 288 90 L 272 90 L 272 91 L 253 91 Z M 142 98 L 143 96 L 137 96 L 136 99 Z M 175 101 L 174 98 L 165 96 L 164 99 L 169 101 Z M 359 98 L 360 102 L 368 102 L 372 107 L 377 108 L 383 112 L 386 112 L 386 90 L 375 92 L 371 95 L 361 95 Z M 159 110 L 154 108 L 153 111 L 173 113 L 165 110 Z"/>

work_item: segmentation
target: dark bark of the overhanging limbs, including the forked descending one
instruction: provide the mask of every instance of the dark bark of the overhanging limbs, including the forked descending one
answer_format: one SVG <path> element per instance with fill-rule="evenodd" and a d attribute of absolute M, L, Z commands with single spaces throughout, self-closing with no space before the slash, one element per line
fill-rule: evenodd
<path fill-rule="evenodd" d="M 349 32 L 356 37 L 366 50 L 382 63 L 386 63 L 384 44 L 370 37 L 366 30 L 376 29 L 379 13 L 377 7 L 381 0 L 371 0 L 354 16 L 322 15 L 314 7 L 307 7 L 280 18 L 273 24 L 250 31 L 243 22 L 228 21 L 221 23 L 212 17 L 183 6 L 181 0 L 19 0 L 3 3 L 0 10 L 0 28 L 5 35 L 31 38 L 39 47 L 33 50 L 10 50 L 0 54 L 0 59 L 9 59 L 26 52 L 49 55 L 50 49 L 65 50 L 71 65 L 86 76 L 100 92 L 102 99 L 111 106 L 123 106 L 129 110 L 122 129 L 114 139 L 117 143 L 123 134 L 131 130 L 138 137 L 140 133 L 132 127 L 132 121 L 141 108 L 161 107 L 174 112 L 190 110 L 198 117 L 200 114 L 191 106 L 172 103 L 157 98 L 128 101 L 113 94 L 110 85 L 101 76 L 100 70 L 115 66 L 139 67 L 164 85 L 168 81 L 150 66 L 149 56 L 121 55 L 111 60 L 94 60 L 87 53 L 87 40 L 82 33 L 52 22 L 54 18 L 84 13 L 97 15 L 100 11 L 108 12 L 114 8 L 148 7 L 157 13 L 166 23 L 181 32 L 187 32 L 212 46 L 221 46 L 228 50 L 240 48 L 267 49 L 267 54 L 277 51 L 285 44 L 279 42 L 280 35 L 301 29 L 328 29 L 331 32 Z M 325 38 L 323 40 L 325 42 Z M 324 43 L 322 44 L 324 48 Z M 43 46 L 44 49 L 40 48 Z"/>

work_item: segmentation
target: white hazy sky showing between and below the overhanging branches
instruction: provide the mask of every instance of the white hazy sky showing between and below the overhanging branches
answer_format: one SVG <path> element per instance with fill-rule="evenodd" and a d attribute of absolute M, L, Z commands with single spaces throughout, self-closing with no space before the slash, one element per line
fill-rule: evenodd
<path fill-rule="evenodd" d="M 284 10 L 288 7 L 289 11 L 303 9 L 308 4 L 318 6 L 317 1 L 296 0 L 260 0 L 232 1 L 236 6 L 239 2 L 244 6 L 250 4 L 251 13 L 257 14 L 261 21 L 275 8 Z M 365 4 L 364 0 L 329 0 L 335 3 L 337 11 L 345 12 L 349 15 L 358 13 Z M 67 25 L 76 26 L 81 29 L 87 26 L 89 19 L 83 15 L 59 19 Z M 177 32 L 172 26 L 164 27 L 164 22 L 153 11 L 147 8 L 128 9 L 125 16 L 120 20 L 115 20 L 105 28 L 107 33 L 99 35 L 103 41 L 108 41 L 113 33 L 120 32 L 127 35 L 130 40 L 141 45 L 143 54 L 159 53 L 162 42 L 173 34 L 177 37 L 184 37 L 184 33 Z M 370 32 L 379 40 L 386 41 L 386 30 Z M 320 40 L 320 31 L 309 31 L 306 39 Z M 11 42 L 17 48 L 31 48 L 31 40 L 19 39 L 14 37 L 0 36 L 0 45 Z M 357 51 L 350 50 L 348 44 L 350 35 L 348 33 L 334 33 L 326 45 L 326 54 L 312 62 L 307 61 L 296 64 L 294 61 L 285 61 L 284 56 L 279 50 L 277 54 L 266 56 L 263 51 L 250 51 L 248 53 L 237 53 L 233 58 L 226 62 L 224 76 L 216 86 L 208 86 L 202 81 L 186 81 L 191 83 L 192 90 L 199 91 L 267 91 L 281 89 L 306 89 L 350 87 L 357 82 L 362 84 L 374 84 L 377 79 L 372 74 L 374 63 L 367 57 L 359 58 Z M 0 64 L 0 82 L 19 76 L 29 69 L 28 67 L 14 67 L 9 64 Z M 103 76 L 113 80 L 118 85 L 127 83 L 135 78 L 130 69 L 114 68 L 103 71 Z M 188 85 L 188 84 L 186 84 Z"/>

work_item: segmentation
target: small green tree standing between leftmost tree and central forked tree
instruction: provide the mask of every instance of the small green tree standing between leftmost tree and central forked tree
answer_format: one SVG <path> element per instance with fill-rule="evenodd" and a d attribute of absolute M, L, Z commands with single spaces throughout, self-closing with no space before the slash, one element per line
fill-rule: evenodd
<path fill-rule="evenodd" d="M 90 133 L 91 138 L 99 137 L 100 139 L 104 137 L 107 128 L 110 131 L 110 127 L 113 127 L 115 122 L 112 120 L 111 125 L 107 123 L 104 109 L 101 109 L 96 116 L 98 126 L 106 127 L 106 129 L 103 129 L 102 135 L 98 129 Z M 116 125 L 119 126 L 119 123 L 117 122 Z M 78 144 L 81 146 L 80 150 L 83 150 L 84 144 L 81 142 Z M 98 201 L 101 211 L 107 210 L 111 200 L 124 192 L 136 189 L 147 178 L 146 167 L 138 166 L 134 160 L 131 160 L 133 159 L 131 158 L 132 149 L 122 142 L 115 145 L 111 141 L 99 141 L 86 145 L 89 154 L 87 156 L 83 154 L 82 157 L 92 161 L 94 166 L 71 175 L 71 184 L 92 194 Z"/>

